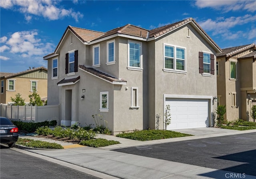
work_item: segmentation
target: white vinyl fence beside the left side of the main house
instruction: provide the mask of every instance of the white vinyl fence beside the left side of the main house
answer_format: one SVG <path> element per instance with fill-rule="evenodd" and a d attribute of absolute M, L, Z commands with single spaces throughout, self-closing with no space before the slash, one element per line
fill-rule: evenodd
<path fill-rule="evenodd" d="M 0 116 L 23 122 L 56 120 L 60 125 L 60 104 L 43 106 L 0 104 Z"/>

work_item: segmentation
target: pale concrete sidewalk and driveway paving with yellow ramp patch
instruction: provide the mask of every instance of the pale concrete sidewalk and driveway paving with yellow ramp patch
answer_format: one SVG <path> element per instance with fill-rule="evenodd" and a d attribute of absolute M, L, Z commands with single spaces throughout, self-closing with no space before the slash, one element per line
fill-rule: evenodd
<path fill-rule="evenodd" d="M 206 167 L 199 167 L 195 165 L 188 165 L 184 163 L 154 159 L 150 157 L 143 157 L 110 150 L 120 147 L 132 147 L 139 145 L 149 145 L 256 132 L 256 130 L 234 131 L 218 128 L 181 129 L 175 131 L 193 134 L 194 136 L 154 141 L 134 141 L 110 135 L 98 135 L 98 137 L 100 138 L 117 140 L 121 142 L 118 145 L 111 145 L 101 148 L 86 147 L 72 143 L 64 143 L 60 141 L 51 141 L 50 139 L 45 138 L 32 137 L 35 140 L 44 140 L 60 143 L 64 147 L 64 149 L 34 150 L 27 148 L 24 151 L 29 152 L 31 155 L 37 155 L 39 157 L 41 156 L 42 158 L 50 157 L 50 159 L 56 159 L 60 163 L 65 162 L 66 165 L 72 164 L 73 167 L 71 168 L 74 169 L 76 169 L 76 167 L 81 167 L 90 169 L 90 171 L 98 171 L 100 172 L 100 174 L 104 174 L 104 176 L 98 177 L 104 179 L 224 179 L 234 178 L 234 176 L 236 176 L 235 178 L 256 179 L 256 176 L 244 175 L 242 173 L 240 174 L 229 171 L 210 169 Z M 20 137 L 31 138 L 30 136 Z"/>

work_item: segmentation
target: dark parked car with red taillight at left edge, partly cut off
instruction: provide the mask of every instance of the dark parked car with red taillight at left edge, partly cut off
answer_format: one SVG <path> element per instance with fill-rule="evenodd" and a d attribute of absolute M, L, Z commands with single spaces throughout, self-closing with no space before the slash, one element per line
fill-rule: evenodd
<path fill-rule="evenodd" d="M 10 119 L 0 117 L 0 143 L 14 147 L 18 137 L 18 127 Z"/>

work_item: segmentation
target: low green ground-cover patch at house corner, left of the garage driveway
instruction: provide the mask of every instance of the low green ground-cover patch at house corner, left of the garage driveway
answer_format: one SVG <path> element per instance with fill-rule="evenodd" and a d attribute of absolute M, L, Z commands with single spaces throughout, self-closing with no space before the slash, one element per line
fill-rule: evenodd
<path fill-rule="evenodd" d="M 185 137 L 185 136 L 192 136 L 192 135 L 186 134 L 186 133 L 174 132 L 174 131 L 154 130 L 154 129 L 134 131 L 131 133 L 121 133 L 116 135 L 116 137 L 122 137 L 127 139 L 138 140 L 138 141 L 150 141 L 150 140 L 168 139 L 168 138 Z"/>

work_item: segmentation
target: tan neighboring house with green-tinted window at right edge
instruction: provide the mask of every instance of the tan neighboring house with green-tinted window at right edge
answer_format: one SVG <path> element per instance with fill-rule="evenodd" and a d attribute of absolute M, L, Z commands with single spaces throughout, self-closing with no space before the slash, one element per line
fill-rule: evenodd
<path fill-rule="evenodd" d="M 256 45 L 222 49 L 217 56 L 218 103 L 226 105 L 225 118 L 251 120 L 256 105 Z"/>

